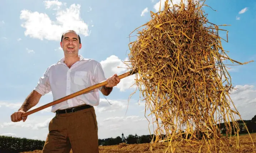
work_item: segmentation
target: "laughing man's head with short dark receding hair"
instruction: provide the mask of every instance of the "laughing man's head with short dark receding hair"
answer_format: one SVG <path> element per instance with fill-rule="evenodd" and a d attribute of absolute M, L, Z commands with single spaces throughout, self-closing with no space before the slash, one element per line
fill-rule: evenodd
<path fill-rule="evenodd" d="M 65 55 L 78 54 L 78 50 L 82 47 L 82 45 L 79 44 L 79 38 L 75 32 L 66 32 L 62 42 L 60 42 L 60 46 Z"/>

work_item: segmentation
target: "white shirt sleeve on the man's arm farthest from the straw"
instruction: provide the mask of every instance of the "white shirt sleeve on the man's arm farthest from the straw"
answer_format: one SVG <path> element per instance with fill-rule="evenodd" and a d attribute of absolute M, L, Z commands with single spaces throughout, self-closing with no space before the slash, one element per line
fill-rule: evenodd
<path fill-rule="evenodd" d="M 46 93 L 49 93 L 51 91 L 51 86 L 49 82 L 49 69 L 44 72 L 44 75 L 39 78 L 39 82 L 37 82 L 37 86 L 34 88 L 35 91 L 37 91 L 41 95 L 45 95 Z"/>

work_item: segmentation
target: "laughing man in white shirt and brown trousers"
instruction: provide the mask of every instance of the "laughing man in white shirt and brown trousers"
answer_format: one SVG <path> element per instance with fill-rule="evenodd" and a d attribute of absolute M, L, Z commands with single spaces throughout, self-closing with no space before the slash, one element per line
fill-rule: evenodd
<path fill-rule="evenodd" d="M 64 58 L 47 68 L 35 89 L 11 121 L 25 121 L 21 114 L 35 106 L 42 95 L 52 92 L 54 100 L 107 80 L 107 85 L 52 106 L 56 113 L 49 123 L 43 153 L 99 153 L 98 127 L 93 106 L 99 105 L 99 92 L 109 95 L 120 79 L 117 74 L 105 78 L 101 64 L 78 54 L 82 44 L 75 31 L 62 34 L 60 46 Z"/>

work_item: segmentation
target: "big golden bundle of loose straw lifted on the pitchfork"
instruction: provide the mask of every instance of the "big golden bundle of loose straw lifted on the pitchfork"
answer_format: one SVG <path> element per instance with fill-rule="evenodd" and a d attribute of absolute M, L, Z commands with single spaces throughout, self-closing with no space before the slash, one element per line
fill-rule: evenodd
<path fill-rule="evenodd" d="M 240 115 L 229 97 L 232 84 L 223 60 L 246 63 L 229 58 L 221 45 L 221 29 L 207 21 L 200 3 L 204 1 L 171 6 L 166 1 L 164 10 L 151 12 L 152 20 L 129 44 L 127 66 L 137 72 L 146 109 L 156 117 L 154 133 L 166 136 L 162 141 L 169 142 L 170 152 L 186 145 L 206 145 L 217 152 L 224 141 L 221 122 L 227 134 L 239 132 L 235 115 Z"/>

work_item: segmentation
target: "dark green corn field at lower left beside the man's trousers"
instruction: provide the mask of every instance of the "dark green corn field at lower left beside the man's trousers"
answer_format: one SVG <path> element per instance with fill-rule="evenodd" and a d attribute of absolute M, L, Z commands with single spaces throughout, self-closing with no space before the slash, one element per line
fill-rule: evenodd
<path fill-rule="evenodd" d="M 17 153 L 25 151 L 42 150 L 45 141 L 0 136 L 0 153 Z"/>

